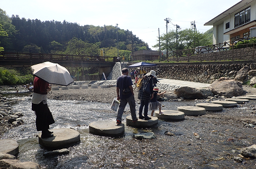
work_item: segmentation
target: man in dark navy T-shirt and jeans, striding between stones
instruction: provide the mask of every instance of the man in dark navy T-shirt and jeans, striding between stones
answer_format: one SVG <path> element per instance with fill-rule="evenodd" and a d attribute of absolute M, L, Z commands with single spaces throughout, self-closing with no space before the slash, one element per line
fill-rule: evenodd
<path fill-rule="evenodd" d="M 116 93 L 117 100 L 120 104 L 117 110 L 116 124 L 122 124 L 122 114 L 126 104 L 129 103 L 130 114 L 132 115 L 132 122 L 138 121 L 136 117 L 134 90 L 132 89 L 132 79 L 130 78 L 127 68 L 122 69 L 122 76 L 117 78 Z"/>

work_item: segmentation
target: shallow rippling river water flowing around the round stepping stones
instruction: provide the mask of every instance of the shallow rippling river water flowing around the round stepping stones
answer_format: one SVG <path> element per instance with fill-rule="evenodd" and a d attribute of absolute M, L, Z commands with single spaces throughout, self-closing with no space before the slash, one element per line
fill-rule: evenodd
<path fill-rule="evenodd" d="M 68 155 L 45 158 L 43 153 L 48 150 L 38 143 L 31 97 L 22 94 L 12 95 L 10 99 L 17 99 L 12 111 L 24 114 L 24 124 L 8 130 L 2 139 L 17 140 L 17 159 L 39 163 L 42 168 L 256 168 L 254 159 L 234 162 L 240 148 L 256 144 L 255 129 L 237 120 L 237 117 L 255 118 L 255 101 L 204 116 L 186 116 L 184 121 L 159 121 L 152 129 L 126 126 L 123 137 L 112 138 L 88 132 L 91 122 L 116 120 L 110 104 L 48 100 L 55 119 L 50 128 L 78 130 L 81 142 L 69 147 Z M 202 101 L 205 100 L 162 102 L 165 106 L 162 109 L 176 110 L 178 106 L 194 106 Z M 139 111 L 139 104 L 136 109 Z M 123 118 L 127 115 L 125 112 Z M 165 135 L 165 131 L 174 135 Z M 153 132 L 157 139 L 134 139 L 134 133 L 142 132 Z M 194 137 L 194 132 L 199 139 Z"/>

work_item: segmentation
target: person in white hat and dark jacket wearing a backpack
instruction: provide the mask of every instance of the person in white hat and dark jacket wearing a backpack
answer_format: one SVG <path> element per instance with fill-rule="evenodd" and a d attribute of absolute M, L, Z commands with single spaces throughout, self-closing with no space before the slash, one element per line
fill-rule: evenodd
<path fill-rule="evenodd" d="M 139 90 L 138 98 L 140 99 L 140 108 L 139 108 L 139 119 L 145 119 L 146 121 L 150 120 L 151 117 L 147 115 L 149 111 L 149 101 L 153 98 L 153 77 L 157 77 L 155 75 L 155 71 L 150 70 L 142 80 L 142 87 Z M 145 88 L 147 84 L 150 84 L 150 93 L 145 92 Z M 144 107 L 144 116 L 142 116 L 142 110 Z"/>

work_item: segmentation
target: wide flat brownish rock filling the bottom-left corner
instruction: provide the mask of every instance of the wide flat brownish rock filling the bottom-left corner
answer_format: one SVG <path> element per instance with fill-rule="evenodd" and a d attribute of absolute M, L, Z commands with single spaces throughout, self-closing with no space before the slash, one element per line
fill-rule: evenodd
<path fill-rule="evenodd" d="M 0 168 L 13 168 L 13 169 L 39 169 L 40 166 L 34 162 L 21 162 L 19 160 L 0 160 Z"/>

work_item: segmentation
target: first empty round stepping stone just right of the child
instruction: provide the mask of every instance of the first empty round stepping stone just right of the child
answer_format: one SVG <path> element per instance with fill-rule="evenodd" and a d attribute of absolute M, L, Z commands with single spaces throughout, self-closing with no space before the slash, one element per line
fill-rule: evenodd
<path fill-rule="evenodd" d="M 185 119 L 185 113 L 182 111 L 162 110 L 163 114 L 155 112 L 155 117 L 164 121 L 180 121 Z"/>

